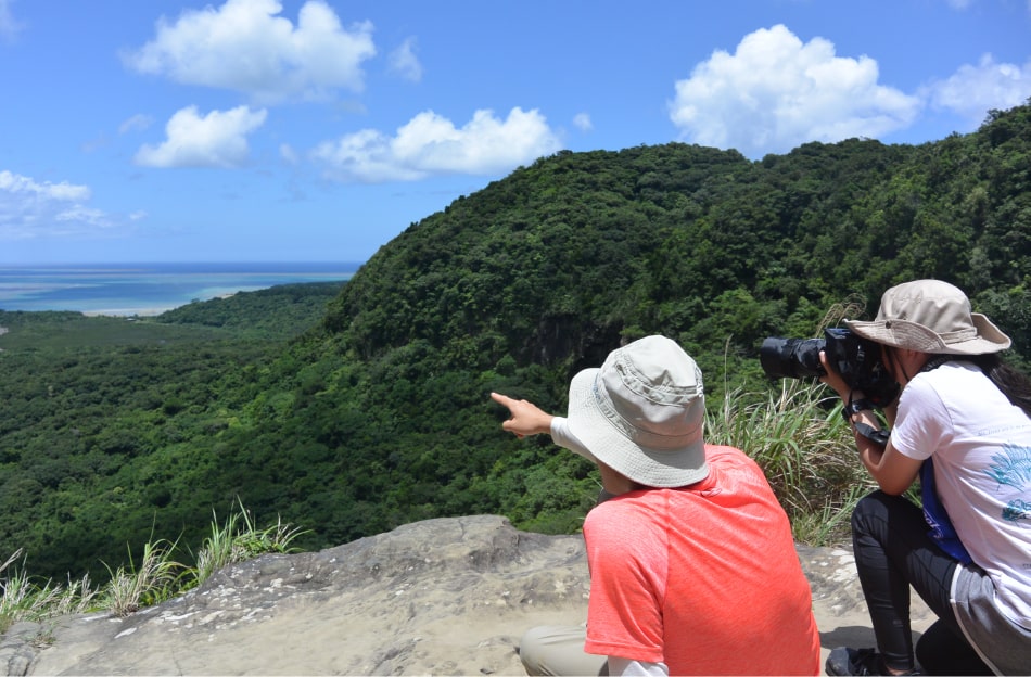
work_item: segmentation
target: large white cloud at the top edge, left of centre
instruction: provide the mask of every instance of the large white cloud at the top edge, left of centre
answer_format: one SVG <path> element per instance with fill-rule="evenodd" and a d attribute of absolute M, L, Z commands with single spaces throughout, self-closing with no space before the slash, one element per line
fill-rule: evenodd
<path fill-rule="evenodd" d="M 153 40 L 123 54 L 140 73 L 244 92 L 255 101 L 326 99 L 361 91 L 361 63 L 376 54 L 372 24 L 345 29 L 322 0 L 302 5 L 294 26 L 277 0 L 228 0 L 162 17 Z"/>

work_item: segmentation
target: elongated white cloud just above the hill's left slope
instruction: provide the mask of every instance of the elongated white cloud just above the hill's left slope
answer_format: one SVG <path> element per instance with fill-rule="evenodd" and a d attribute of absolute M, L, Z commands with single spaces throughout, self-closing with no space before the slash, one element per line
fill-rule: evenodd
<path fill-rule="evenodd" d="M 504 120 L 476 111 L 461 129 L 425 111 L 394 137 L 365 129 L 319 144 L 311 157 L 340 180 L 413 181 L 436 174 L 501 174 L 561 148 L 536 110 L 516 107 Z"/>

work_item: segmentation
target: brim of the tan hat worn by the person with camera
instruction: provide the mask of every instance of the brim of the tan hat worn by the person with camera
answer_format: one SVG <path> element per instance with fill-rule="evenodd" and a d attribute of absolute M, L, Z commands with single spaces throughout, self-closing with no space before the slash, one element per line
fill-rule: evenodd
<path fill-rule="evenodd" d="M 845 320 L 844 325 L 863 338 L 875 343 L 908 348 L 920 353 L 942 355 L 985 355 L 1007 349 L 1011 342 L 995 324 L 980 312 L 972 312 L 977 335 L 971 338 L 946 342 L 934 331 L 907 320 L 875 320 L 857 322 Z"/>

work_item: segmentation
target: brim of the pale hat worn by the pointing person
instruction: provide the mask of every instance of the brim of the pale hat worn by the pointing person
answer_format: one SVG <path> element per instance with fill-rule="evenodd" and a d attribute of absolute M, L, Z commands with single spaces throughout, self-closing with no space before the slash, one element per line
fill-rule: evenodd
<path fill-rule="evenodd" d="M 585 369 L 569 388 L 570 431 L 591 455 L 626 477 L 650 487 L 679 487 L 709 476 L 701 430 L 697 439 L 672 449 L 642 447 L 613 425 L 601 412 L 595 394 L 600 369 Z"/>

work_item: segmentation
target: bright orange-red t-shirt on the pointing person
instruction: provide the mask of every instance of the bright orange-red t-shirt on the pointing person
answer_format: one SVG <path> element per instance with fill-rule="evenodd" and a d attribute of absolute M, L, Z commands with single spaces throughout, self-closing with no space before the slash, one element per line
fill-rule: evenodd
<path fill-rule="evenodd" d="M 791 528 L 762 470 L 705 446 L 705 480 L 632 491 L 584 523 L 587 653 L 671 675 L 818 675 L 819 634 Z"/>

